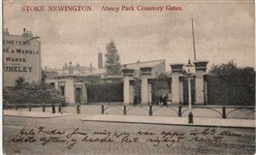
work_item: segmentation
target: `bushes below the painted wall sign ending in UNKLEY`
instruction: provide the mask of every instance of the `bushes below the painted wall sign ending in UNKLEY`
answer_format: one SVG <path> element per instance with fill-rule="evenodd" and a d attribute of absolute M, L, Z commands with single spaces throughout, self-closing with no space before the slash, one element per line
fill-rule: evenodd
<path fill-rule="evenodd" d="M 15 87 L 4 88 L 3 98 L 10 104 L 65 104 L 63 97 L 47 83 L 26 83 L 21 78 L 16 79 Z"/>

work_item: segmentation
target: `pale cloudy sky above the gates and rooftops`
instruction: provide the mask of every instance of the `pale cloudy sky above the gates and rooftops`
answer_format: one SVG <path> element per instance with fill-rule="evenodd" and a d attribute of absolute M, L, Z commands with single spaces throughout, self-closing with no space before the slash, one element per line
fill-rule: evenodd
<path fill-rule="evenodd" d="M 92 12 L 21 12 L 21 6 L 89 5 Z M 103 12 L 103 6 L 181 7 L 181 11 Z M 26 28 L 39 36 L 42 67 L 62 68 L 73 62 L 94 67 L 98 52 L 114 41 L 122 64 L 165 59 L 170 64 L 194 59 L 194 20 L 197 60 L 212 64 L 234 60 L 255 66 L 254 1 L 4 1 L 3 27 L 14 35 Z M 103 58 L 105 60 L 105 57 Z"/>

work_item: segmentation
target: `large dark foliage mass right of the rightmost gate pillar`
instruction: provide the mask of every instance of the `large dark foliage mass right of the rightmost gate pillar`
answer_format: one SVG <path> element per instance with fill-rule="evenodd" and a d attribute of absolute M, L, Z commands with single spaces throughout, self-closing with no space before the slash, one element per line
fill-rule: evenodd
<path fill-rule="evenodd" d="M 213 65 L 208 77 L 208 103 L 220 105 L 254 105 L 255 71 L 239 68 L 233 61 Z"/>

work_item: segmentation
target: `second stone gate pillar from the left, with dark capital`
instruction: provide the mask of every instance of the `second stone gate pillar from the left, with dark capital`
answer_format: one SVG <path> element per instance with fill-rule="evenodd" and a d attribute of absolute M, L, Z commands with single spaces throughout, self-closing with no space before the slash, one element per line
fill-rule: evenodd
<path fill-rule="evenodd" d="M 151 67 L 143 67 L 141 68 L 142 73 L 142 104 L 149 104 L 149 86 L 148 86 L 148 78 L 151 77 Z"/>

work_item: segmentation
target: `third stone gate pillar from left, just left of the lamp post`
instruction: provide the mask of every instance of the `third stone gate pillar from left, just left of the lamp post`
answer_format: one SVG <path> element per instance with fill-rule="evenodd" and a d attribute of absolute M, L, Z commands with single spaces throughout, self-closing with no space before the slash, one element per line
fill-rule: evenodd
<path fill-rule="evenodd" d="M 181 104 L 179 77 L 182 75 L 184 64 L 172 64 L 172 103 Z"/>

